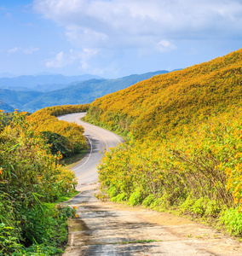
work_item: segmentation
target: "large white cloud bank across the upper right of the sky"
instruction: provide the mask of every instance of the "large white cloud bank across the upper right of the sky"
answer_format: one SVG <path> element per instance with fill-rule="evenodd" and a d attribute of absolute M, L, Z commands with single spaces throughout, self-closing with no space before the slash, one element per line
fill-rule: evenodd
<path fill-rule="evenodd" d="M 33 6 L 65 26 L 73 43 L 96 47 L 242 32 L 242 3 L 235 0 L 35 0 Z"/>

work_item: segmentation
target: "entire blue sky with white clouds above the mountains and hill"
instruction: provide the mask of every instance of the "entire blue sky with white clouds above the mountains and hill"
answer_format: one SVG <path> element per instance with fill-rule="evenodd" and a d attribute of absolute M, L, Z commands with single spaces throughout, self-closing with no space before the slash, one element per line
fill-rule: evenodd
<path fill-rule="evenodd" d="M 0 0 L 0 73 L 118 78 L 242 47 L 242 0 Z"/>

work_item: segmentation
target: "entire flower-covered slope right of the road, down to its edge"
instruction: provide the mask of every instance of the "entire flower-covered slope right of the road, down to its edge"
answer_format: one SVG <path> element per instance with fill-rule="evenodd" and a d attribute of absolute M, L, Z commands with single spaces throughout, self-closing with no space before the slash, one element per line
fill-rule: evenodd
<path fill-rule="evenodd" d="M 95 100 L 85 119 L 127 139 L 102 159 L 99 196 L 212 219 L 240 237 L 241 85 L 239 49 Z"/>

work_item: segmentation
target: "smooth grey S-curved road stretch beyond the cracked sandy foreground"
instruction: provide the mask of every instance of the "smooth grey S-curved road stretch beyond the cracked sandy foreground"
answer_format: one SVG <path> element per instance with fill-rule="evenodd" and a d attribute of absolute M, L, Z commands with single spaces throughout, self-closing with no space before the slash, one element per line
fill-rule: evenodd
<path fill-rule="evenodd" d="M 72 171 L 75 172 L 76 177 L 78 177 L 77 189 L 87 186 L 90 183 L 96 183 L 98 180 L 96 167 L 101 160 L 101 152 L 103 152 L 104 149 L 109 150 L 109 148 L 116 147 L 118 143 L 124 142 L 122 137 L 119 137 L 111 131 L 81 121 L 81 118 L 83 118 L 85 114 L 86 113 L 71 113 L 58 118 L 84 126 L 84 136 L 89 143 L 89 151 L 84 156 L 83 160 L 72 167 Z"/>

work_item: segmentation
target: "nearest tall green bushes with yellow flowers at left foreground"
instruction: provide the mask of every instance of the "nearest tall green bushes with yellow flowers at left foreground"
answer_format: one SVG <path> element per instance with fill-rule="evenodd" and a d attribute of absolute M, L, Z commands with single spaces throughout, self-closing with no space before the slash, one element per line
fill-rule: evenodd
<path fill-rule="evenodd" d="M 54 248 L 66 242 L 66 218 L 74 216 L 74 209 L 46 205 L 74 191 L 77 184 L 74 173 L 60 166 L 59 159 L 60 155 L 50 154 L 25 113 L 15 112 L 2 128 L 0 255 L 22 255 L 35 243 Z"/>

